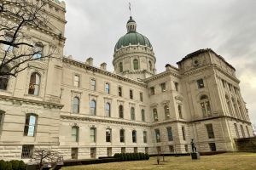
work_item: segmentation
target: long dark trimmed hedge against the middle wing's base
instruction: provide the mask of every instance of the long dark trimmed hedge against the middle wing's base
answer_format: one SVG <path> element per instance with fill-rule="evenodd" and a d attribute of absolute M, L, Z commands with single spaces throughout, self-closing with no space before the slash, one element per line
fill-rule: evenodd
<path fill-rule="evenodd" d="M 138 161 L 138 160 L 148 160 L 148 154 L 144 153 L 116 153 L 113 155 L 114 158 L 119 161 Z"/>

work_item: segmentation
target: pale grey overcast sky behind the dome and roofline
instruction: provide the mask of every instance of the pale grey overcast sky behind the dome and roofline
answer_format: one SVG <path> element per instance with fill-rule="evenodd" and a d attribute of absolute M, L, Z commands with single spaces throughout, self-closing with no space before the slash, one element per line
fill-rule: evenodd
<path fill-rule="evenodd" d="M 157 72 L 176 65 L 186 54 L 212 48 L 236 68 L 241 95 L 256 124 L 255 0 L 65 0 L 64 54 L 85 61 L 94 58 L 113 71 L 113 48 L 126 33 L 131 15 L 137 31 L 153 45 Z M 177 65 L 176 65 L 177 66 Z"/>

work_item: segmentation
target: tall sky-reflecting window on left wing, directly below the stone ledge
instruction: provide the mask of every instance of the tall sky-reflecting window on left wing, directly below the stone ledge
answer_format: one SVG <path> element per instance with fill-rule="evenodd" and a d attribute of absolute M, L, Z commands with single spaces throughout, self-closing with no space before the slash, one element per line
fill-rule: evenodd
<path fill-rule="evenodd" d="M 37 116 L 26 114 L 26 122 L 24 127 L 24 136 L 35 136 Z"/>

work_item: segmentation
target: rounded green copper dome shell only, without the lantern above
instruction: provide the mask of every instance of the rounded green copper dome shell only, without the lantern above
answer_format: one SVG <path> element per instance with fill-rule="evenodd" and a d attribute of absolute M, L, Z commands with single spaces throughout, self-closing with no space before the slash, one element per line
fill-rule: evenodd
<path fill-rule="evenodd" d="M 148 38 L 143 36 L 142 34 L 138 32 L 128 32 L 125 34 L 125 36 L 120 37 L 119 41 L 115 44 L 114 49 L 118 50 L 119 48 L 126 47 L 131 45 L 143 45 L 143 46 L 148 46 L 149 48 L 152 48 L 151 43 L 149 42 Z"/>

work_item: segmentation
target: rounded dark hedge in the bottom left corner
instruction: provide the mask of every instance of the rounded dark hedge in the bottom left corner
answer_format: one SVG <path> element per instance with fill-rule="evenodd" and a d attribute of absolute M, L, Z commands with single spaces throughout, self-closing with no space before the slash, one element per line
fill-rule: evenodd
<path fill-rule="evenodd" d="M 0 160 L 0 169 L 1 170 L 26 170 L 26 164 L 24 161 L 12 160 L 12 161 L 3 161 Z"/>

